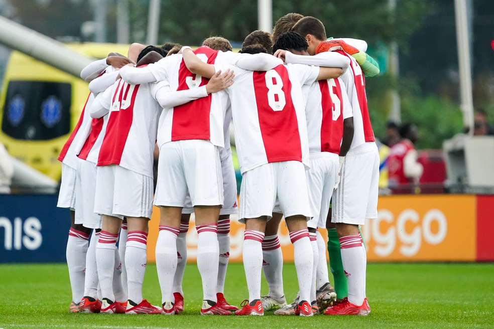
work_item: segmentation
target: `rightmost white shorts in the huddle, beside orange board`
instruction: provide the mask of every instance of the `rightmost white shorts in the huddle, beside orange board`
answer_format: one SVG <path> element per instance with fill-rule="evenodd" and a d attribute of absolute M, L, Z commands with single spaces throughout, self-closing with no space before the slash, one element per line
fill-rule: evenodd
<path fill-rule="evenodd" d="M 333 193 L 333 223 L 363 225 L 378 217 L 379 152 L 366 142 L 346 154 L 338 189 Z"/>

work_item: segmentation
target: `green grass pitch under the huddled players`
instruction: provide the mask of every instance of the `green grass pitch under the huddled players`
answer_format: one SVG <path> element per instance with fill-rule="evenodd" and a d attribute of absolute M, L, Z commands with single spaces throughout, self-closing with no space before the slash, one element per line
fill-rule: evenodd
<path fill-rule="evenodd" d="M 241 264 L 228 267 L 225 296 L 248 297 Z M 284 266 L 288 299 L 295 297 L 293 264 Z M 367 266 L 368 316 L 201 316 L 197 266 L 187 265 L 185 312 L 178 316 L 68 313 L 65 264 L 0 265 L 0 328 L 492 328 L 494 264 L 379 264 Z M 160 304 L 156 266 L 146 270 L 144 296 Z M 263 293 L 267 287 L 263 283 Z"/>

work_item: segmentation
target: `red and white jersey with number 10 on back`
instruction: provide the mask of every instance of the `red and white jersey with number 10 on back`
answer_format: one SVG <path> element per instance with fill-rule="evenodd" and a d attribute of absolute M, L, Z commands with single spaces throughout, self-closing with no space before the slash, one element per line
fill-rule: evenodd
<path fill-rule="evenodd" d="M 118 164 L 153 177 L 153 150 L 162 111 L 156 92 L 162 84 L 130 85 L 119 79 L 98 95 L 93 109 L 102 106 L 109 109 L 109 115 L 96 166 Z"/>

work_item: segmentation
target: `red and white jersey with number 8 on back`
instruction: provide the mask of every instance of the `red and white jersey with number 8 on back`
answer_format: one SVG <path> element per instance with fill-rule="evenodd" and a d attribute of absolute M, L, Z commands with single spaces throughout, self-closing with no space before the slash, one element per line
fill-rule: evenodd
<path fill-rule="evenodd" d="M 301 161 L 308 168 L 301 86 L 313 83 L 319 68 L 299 64 L 279 65 L 266 72 L 226 68 L 235 73 L 235 83 L 226 91 L 231 102 L 240 171 L 291 160 Z"/>

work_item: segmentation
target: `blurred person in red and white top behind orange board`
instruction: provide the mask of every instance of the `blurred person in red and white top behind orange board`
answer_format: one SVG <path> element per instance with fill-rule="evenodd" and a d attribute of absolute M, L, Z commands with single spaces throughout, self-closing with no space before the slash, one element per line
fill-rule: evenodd
<path fill-rule="evenodd" d="M 404 123 L 400 128 L 401 140 L 390 149 L 388 157 L 389 187 L 393 194 L 419 193 L 417 185 L 424 168 L 418 159 L 414 144 L 419 140 L 417 126 Z"/>

